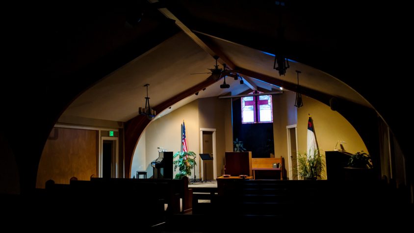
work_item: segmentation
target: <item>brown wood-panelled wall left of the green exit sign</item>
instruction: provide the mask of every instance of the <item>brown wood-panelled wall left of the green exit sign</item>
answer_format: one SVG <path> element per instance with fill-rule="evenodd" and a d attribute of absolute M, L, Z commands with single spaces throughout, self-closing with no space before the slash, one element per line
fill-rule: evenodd
<path fill-rule="evenodd" d="M 52 179 L 69 183 L 71 177 L 88 181 L 97 175 L 97 131 L 53 128 L 43 149 L 37 172 L 37 188 Z"/>

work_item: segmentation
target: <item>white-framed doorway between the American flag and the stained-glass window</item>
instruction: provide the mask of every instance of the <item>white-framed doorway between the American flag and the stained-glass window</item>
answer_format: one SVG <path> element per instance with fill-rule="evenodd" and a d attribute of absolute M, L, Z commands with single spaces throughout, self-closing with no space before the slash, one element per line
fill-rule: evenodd
<path fill-rule="evenodd" d="M 200 129 L 200 153 L 209 154 L 212 160 L 199 160 L 199 170 L 203 181 L 215 180 L 217 177 L 216 168 L 216 129 Z"/>

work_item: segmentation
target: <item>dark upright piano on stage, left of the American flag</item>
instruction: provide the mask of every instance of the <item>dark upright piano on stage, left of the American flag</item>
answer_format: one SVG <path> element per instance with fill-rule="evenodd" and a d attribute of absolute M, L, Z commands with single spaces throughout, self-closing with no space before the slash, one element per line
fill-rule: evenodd
<path fill-rule="evenodd" d="M 158 158 L 151 162 L 153 167 L 153 178 L 173 179 L 173 153 L 158 152 Z"/>

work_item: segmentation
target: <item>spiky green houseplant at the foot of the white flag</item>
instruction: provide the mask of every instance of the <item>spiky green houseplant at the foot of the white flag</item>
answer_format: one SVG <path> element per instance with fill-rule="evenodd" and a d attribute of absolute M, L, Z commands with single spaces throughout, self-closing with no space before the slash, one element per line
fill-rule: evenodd
<path fill-rule="evenodd" d="M 296 169 L 296 175 L 300 176 L 303 180 L 316 180 L 322 178 L 321 173 L 325 170 L 325 160 L 322 159 L 319 150 L 314 150 L 312 153 L 298 153 L 298 166 Z"/>

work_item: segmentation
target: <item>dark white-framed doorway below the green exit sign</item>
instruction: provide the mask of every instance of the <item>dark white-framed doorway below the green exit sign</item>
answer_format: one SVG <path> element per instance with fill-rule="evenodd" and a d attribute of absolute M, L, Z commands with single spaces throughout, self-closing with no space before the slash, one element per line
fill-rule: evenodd
<path fill-rule="evenodd" d="M 101 138 L 101 177 L 118 178 L 118 138 Z"/>

